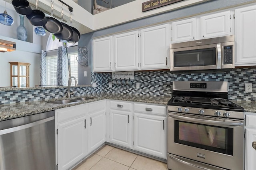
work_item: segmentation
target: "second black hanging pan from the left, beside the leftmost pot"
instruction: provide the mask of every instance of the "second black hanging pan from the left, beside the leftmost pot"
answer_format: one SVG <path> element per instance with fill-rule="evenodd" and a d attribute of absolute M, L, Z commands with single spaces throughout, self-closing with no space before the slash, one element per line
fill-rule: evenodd
<path fill-rule="evenodd" d="M 47 22 L 44 12 L 38 10 L 38 0 L 36 0 L 36 10 L 32 10 L 31 14 L 26 16 L 30 23 L 34 26 L 43 26 Z"/>

